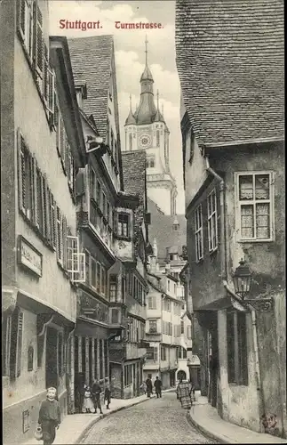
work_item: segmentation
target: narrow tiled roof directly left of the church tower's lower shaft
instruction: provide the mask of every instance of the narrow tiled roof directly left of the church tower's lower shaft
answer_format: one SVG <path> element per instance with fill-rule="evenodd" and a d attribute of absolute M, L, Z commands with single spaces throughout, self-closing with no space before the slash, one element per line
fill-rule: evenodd
<path fill-rule="evenodd" d="M 145 150 L 122 152 L 124 191 L 132 193 L 132 195 L 136 195 L 140 199 L 140 206 L 135 210 L 134 235 L 136 254 L 138 254 L 140 231 L 146 213 L 146 157 Z"/>

